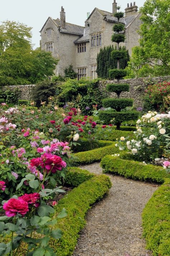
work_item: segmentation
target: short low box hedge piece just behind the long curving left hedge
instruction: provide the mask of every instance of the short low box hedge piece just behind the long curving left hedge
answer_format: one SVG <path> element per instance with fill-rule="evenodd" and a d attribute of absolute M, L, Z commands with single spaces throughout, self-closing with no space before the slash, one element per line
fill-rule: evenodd
<path fill-rule="evenodd" d="M 95 176 L 94 173 L 80 169 L 79 167 L 70 167 L 66 174 L 65 183 L 78 187 L 81 183 L 90 180 Z"/>

